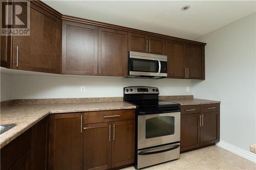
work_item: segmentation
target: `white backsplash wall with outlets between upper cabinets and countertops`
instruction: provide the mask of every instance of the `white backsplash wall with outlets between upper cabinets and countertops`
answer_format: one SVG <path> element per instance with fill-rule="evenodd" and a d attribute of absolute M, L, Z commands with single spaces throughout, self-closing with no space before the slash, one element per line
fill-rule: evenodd
<path fill-rule="evenodd" d="M 87 77 L 87 76 L 34 76 L 9 75 L 1 72 L 2 82 L 12 79 L 12 89 L 1 87 L 1 92 L 12 91 L 12 99 L 41 99 L 41 98 L 90 98 L 123 96 L 126 86 L 154 86 L 160 89 L 160 95 L 188 95 L 186 87 L 191 86 L 190 80 L 170 79 L 127 79 L 115 77 Z M 86 86 L 86 92 L 80 92 L 80 86 Z M 9 86 L 10 87 L 10 86 Z M 1 95 L 1 101 L 9 100 Z"/>

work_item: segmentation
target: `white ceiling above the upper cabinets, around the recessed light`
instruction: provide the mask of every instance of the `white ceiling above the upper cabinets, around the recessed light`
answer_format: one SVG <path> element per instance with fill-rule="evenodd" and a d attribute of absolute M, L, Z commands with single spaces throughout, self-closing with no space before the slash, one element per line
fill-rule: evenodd
<path fill-rule="evenodd" d="M 255 12 L 255 1 L 44 1 L 62 14 L 195 39 Z M 190 5 L 188 11 L 181 7 Z"/>

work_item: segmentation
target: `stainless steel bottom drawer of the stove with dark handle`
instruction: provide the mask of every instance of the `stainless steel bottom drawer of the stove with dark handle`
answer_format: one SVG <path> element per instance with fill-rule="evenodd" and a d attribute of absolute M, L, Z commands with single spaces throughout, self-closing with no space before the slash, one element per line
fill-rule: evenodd
<path fill-rule="evenodd" d="M 140 150 L 137 153 L 137 168 L 155 165 L 162 162 L 178 159 L 180 157 L 180 143 L 169 144 L 162 147 Z"/>

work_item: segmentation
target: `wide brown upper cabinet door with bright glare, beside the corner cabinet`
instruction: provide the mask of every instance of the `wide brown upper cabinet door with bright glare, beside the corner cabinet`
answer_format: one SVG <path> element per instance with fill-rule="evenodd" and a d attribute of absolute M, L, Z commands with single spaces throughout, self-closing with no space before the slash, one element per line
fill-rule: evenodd
<path fill-rule="evenodd" d="M 97 75 L 98 27 L 62 21 L 61 74 Z"/>

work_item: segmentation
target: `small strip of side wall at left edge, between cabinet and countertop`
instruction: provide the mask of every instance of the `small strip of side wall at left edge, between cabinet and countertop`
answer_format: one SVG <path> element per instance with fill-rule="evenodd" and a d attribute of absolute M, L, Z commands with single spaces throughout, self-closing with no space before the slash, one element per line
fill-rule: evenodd
<path fill-rule="evenodd" d="M 12 99 L 12 75 L 3 74 L 1 72 L 1 101 L 8 101 Z"/>

